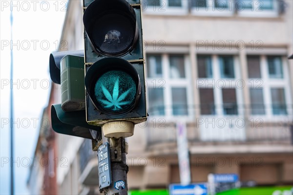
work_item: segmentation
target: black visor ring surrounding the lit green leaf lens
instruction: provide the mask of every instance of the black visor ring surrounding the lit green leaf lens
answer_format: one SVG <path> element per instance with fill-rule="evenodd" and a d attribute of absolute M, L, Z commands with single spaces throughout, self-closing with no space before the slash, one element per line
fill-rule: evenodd
<path fill-rule="evenodd" d="M 134 81 L 136 82 L 136 98 L 132 102 L 132 104 L 125 110 L 120 112 L 111 112 L 109 110 L 104 109 L 100 103 L 96 100 L 94 95 L 94 88 L 97 80 L 104 75 L 106 72 L 111 70 L 122 70 L 129 74 Z M 124 115 L 127 112 L 132 111 L 137 105 L 140 97 L 141 97 L 141 82 L 139 75 L 133 65 L 126 61 L 125 59 L 117 58 L 117 57 L 109 57 L 105 59 L 101 59 L 87 70 L 84 78 L 84 84 L 87 94 L 89 95 L 90 100 L 92 101 L 95 108 L 103 114 L 119 116 Z"/>

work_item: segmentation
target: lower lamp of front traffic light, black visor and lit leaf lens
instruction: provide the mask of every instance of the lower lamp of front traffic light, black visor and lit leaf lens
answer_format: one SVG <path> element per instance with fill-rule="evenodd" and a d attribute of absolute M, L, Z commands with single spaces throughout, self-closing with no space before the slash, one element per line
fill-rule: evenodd
<path fill-rule="evenodd" d="M 94 63 L 86 73 L 85 86 L 95 107 L 112 115 L 133 109 L 141 95 L 135 68 L 126 60 L 115 57 Z"/>

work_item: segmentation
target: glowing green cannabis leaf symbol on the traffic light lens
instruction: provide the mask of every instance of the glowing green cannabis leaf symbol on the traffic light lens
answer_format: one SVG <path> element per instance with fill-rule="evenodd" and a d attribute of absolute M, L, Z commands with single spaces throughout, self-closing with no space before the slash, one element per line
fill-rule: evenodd
<path fill-rule="evenodd" d="M 122 109 L 121 106 L 131 103 L 131 101 L 124 101 L 124 99 L 129 94 L 129 92 L 133 90 L 133 87 L 129 88 L 126 92 L 119 96 L 119 78 L 117 78 L 115 81 L 112 95 L 104 85 L 102 85 L 102 89 L 105 97 L 107 98 L 106 100 L 101 100 L 101 102 L 105 104 L 105 108 L 114 107 L 112 110 L 117 111 Z"/>

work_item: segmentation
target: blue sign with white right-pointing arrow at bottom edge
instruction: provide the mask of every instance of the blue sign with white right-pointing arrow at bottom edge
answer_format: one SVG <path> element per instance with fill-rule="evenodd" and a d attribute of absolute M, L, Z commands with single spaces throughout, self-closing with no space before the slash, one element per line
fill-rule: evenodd
<path fill-rule="evenodd" d="M 180 184 L 169 185 L 170 195 L 208 195 L 206 183 L 193 183 L 186 186 Z"/>

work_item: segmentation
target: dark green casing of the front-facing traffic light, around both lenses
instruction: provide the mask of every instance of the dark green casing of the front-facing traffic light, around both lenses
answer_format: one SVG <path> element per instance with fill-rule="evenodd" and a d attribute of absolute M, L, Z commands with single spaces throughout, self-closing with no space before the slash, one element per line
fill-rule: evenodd
<path fill-rule="evenodd" d="M 129 5 L 130 4 L 130 5 Z M 107 55 L 99 52 L 91 40 L 94 40 L 92 28 L 97 28 L 95 21 L 98 21 L 104 15 L 119 13 L 128 17 L 131 15 L 131 22 L 133 26 L 135 24 L 137 34 L 133 39 L 132 47 L 126 52 L 118 55 Z M 133 19 L 133 20 L 132 20 Z M 128 61 L 136 70 L 139 76 L 139 82 L 141 86 L 140 98 L 137 100 L 134 108 L 123 114 L 110 114 L 97 109 L 97 105 L 93 103 L 93 96 L 91 93 L 86 92 L 86 121 L 91 125 L 103 125 L 111 121 L 130 121 L 135 124 L 146 121 L 146 87 L 145 87 L 145 61 L 143 54 L 143 32 L 142 32 L 142 20 L 141 20 L 141 1 L 140 0 L 84 0 L 84 62 L 85 62 L 85 87 L 91 85 L 90 82 L 95 80 L 95 77 L 99 75 L 100 60 L 109 59 L 109 65 L 112 60 L 123 59 Z M 105 20 L 105 23 L 107 21 Z M 102 28 L 102 27 L 101 27 Z M 115 29 L 115 28 L 114 28 Z M 112 29 L 113 30 L 113 29 Z M 105 36 L 105 35 L 104 35 Z M 111 58 L 111 59 L 110 59 Z M 112 61 L 112 62 L 110 62 Z M 103 61 L 103 63 L 105 60 Z M 117 60 L 117 64 L 121 61 Z M 102 62 L 101 62 L 102 63 Z M 122 63 L 124 64 L 124 63 Z M 111 66 L 112 67 L 112 66 Z M 117 67 L 116 67 L 117 68 Z M 115 66 L 113 69 L 115 70 Z M 127 70 L 126 70 L 127 71 Z M 130 71 L 130 70 L 128 70 Z"/>

